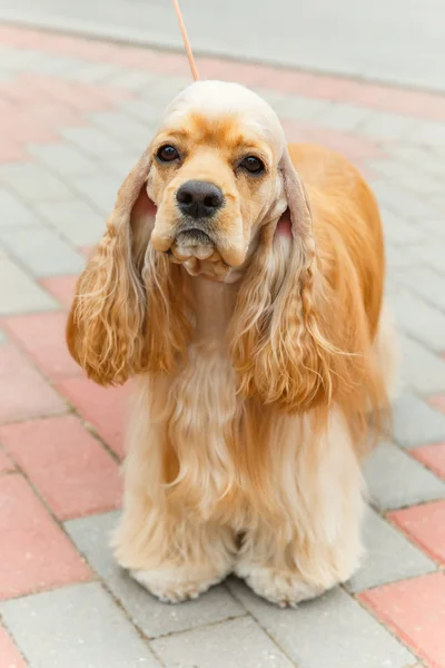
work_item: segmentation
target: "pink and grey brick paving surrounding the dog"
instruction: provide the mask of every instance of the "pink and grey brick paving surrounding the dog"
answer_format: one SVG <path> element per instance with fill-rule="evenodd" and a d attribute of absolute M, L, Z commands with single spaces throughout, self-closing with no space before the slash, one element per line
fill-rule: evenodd
<path fill-rule="evenodd" d="M 370 179 L 404 357 L 394 442 L 366 468 L 363 569 L 283 611 L 231 580 L 168 607 L 107 547 L 127 390 L 69 358 L 66 311 L 182 57 L 0 27 L 0 668 L 445 667 L 445 97 L 202 60 L 259 89 L 289 139 Z M 2 625 L 2 626 L 1 626 Z"/>

